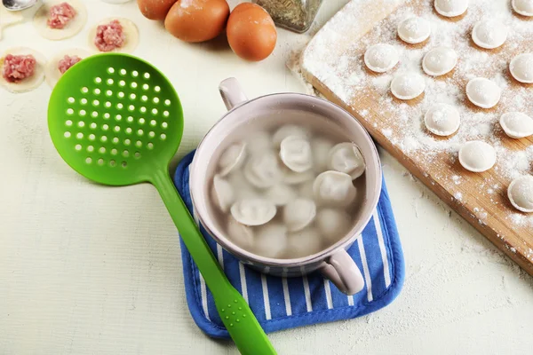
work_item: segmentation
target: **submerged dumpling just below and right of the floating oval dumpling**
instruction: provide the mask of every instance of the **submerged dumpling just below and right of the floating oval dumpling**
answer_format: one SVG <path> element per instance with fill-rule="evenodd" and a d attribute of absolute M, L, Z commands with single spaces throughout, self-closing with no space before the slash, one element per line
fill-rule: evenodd
<path fill-rule="evenodd" d="M 268 224 L 258 228 L 253 245 L 259 256 L 281 258 L 287 248 L 287 228 L 280 224 Z"/>

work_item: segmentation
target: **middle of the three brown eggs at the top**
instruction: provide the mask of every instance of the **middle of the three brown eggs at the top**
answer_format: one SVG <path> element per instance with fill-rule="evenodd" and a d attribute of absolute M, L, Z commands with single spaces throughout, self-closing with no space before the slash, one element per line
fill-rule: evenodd
<path fill-rule="evenodd" d="M 228 16 L 226 0 L 179 0 L 167 14 L 164 27 L 182 41 L 203 42 L 219 36 Z"/>

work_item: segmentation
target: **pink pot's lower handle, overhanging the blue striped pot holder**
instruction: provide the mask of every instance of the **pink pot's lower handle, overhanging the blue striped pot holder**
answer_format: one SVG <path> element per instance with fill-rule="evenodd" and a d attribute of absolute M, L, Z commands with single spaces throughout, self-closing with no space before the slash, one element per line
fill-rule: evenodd
<path fill-rule="evenodd" d="M 322 262 L 320 272 L 346 295 L 355 295 L 364 288 L 361 271 L 345 249 L 338 250 Z"/>

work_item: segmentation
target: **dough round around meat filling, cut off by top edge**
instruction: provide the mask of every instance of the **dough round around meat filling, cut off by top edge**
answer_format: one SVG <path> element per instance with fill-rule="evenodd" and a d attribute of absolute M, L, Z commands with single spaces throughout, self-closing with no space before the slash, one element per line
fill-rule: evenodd
<path fill-rule="evenodd" d="M 76 10 L 76 16 L 70 20 L 65 28 L 49 28 L 46 24 L 48 14 L 52 6 L 68 3 Z M 61 39 L 76 36 L 87 23 L 87 8 L 79 0 L 45 0 L 44 4 L 37 10 L 34 16 L 34 26 L 39 33 L 46 39 L 59 41 Z"/>

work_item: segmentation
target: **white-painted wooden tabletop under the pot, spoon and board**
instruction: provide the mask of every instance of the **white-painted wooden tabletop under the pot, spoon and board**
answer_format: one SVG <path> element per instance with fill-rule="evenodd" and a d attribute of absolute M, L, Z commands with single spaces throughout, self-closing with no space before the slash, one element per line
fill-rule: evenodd
<path fill-rule="evenodd" d="M 179 157 L 224 114 L 218 83 L 237 77 L 250 97 L 304 91 L 285 67 L 306 35 L 279 30 L 274 55 L 238 59 L 223 41 L 180 43 L 134 2 L 84 1 L 89 23 L 119 13 L 137 22 L 135 54 L 168 75 L 185 108 Z M 346 0 L 326 0 L 322 25 Z M 231 2 L 232 5 L 236 1 Z M 0 51 L 46 56 L 86 46 L 8 28 Z M 150 185 L 109 188 L 60 160 L 46 128 L 50 89 L 0 90 L 0 354 L 236 354 L 207 338 L 187 310 L 177 232 Z M 407 261 L 401 296 L 361 319 L 270 335 L 280 354 L 527 354 L 533 279 L 382 153 Z"/>

